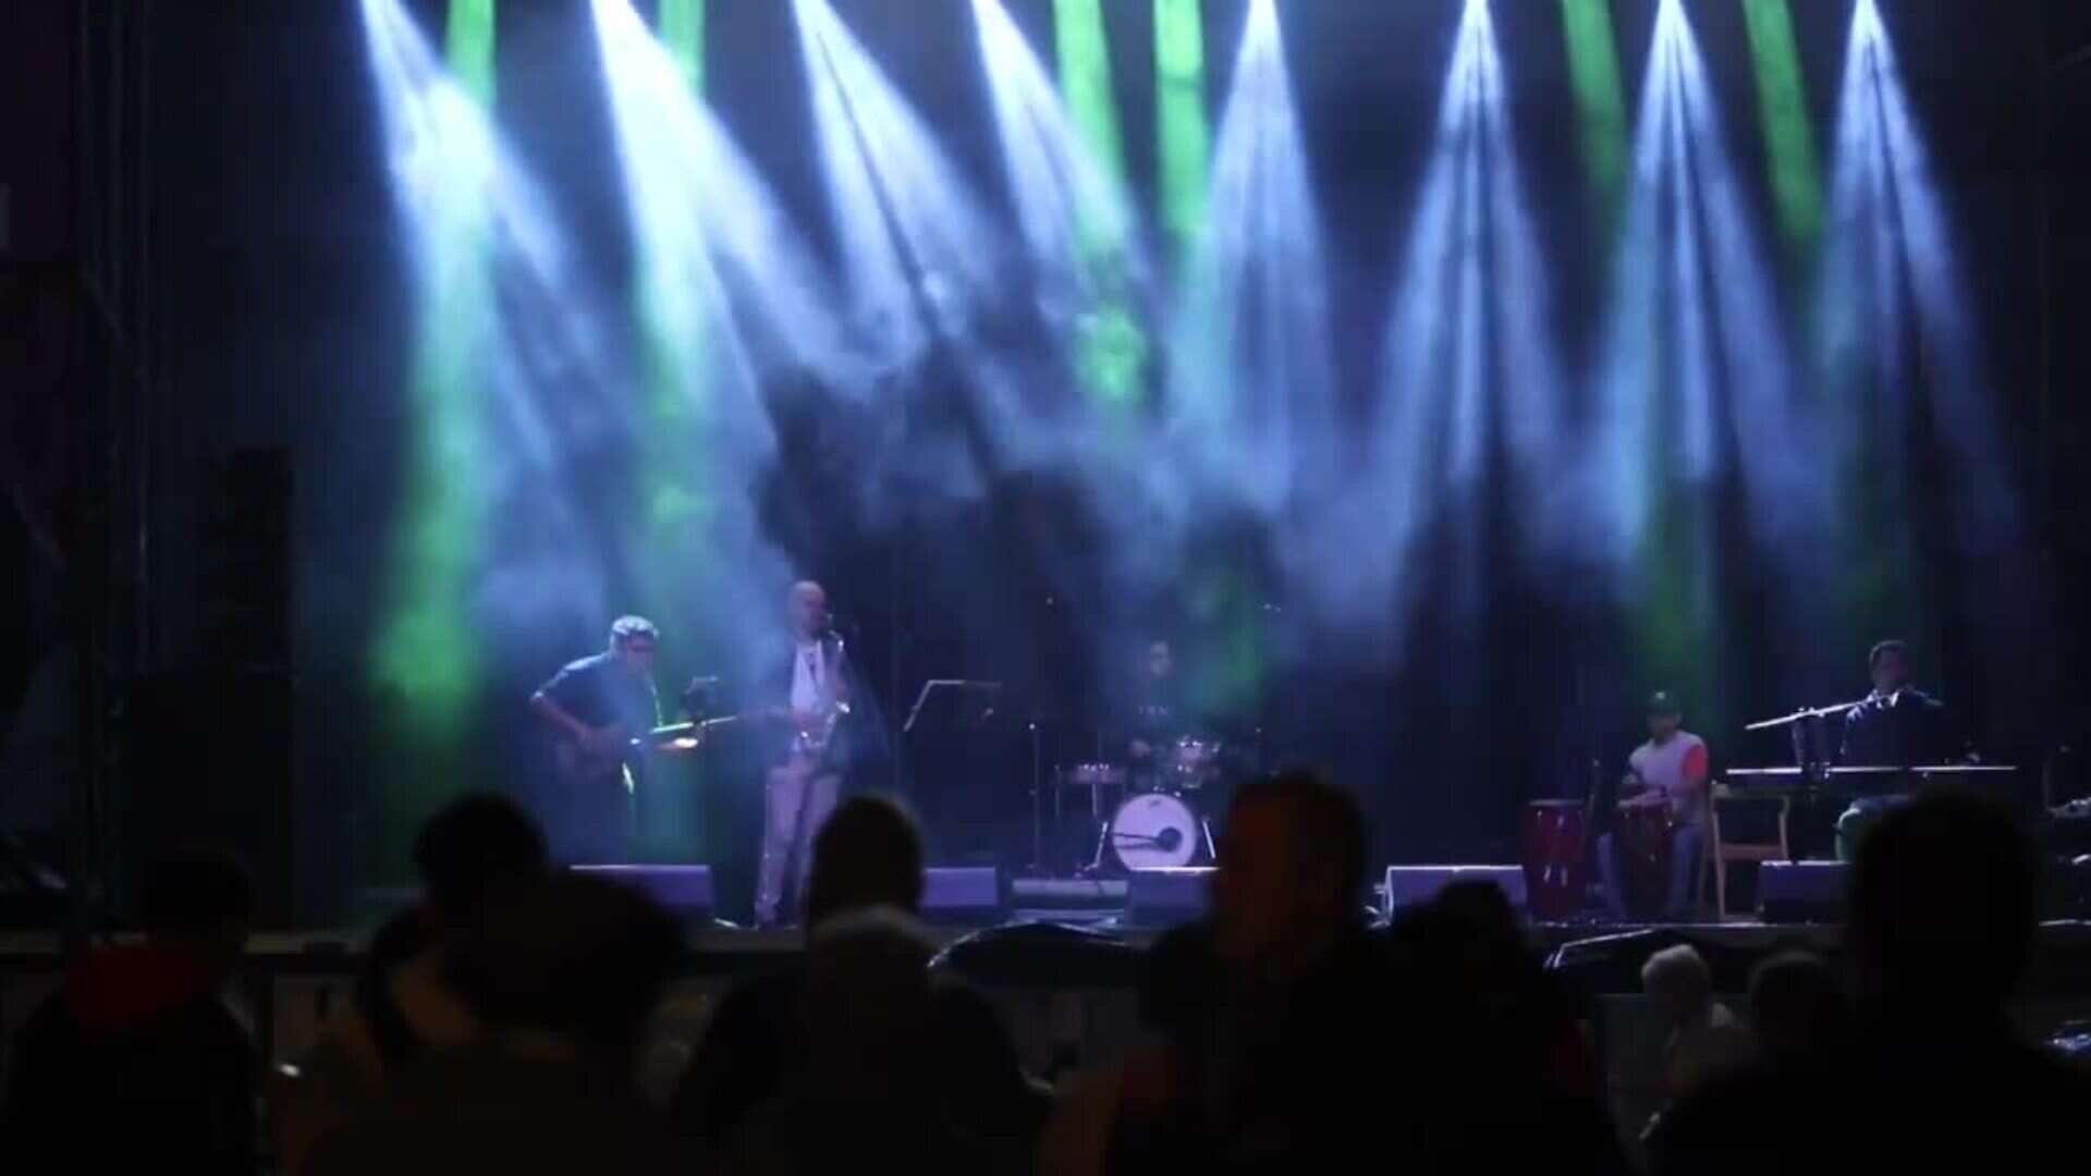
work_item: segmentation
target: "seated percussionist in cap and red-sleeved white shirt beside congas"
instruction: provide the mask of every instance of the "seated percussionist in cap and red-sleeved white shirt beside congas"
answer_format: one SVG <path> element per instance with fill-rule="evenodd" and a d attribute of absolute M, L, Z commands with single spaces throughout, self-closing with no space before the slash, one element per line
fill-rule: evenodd
<path fill-rule="evenodd" d="M 1698 877 L 1706 845 L 1706 741 L 1683 728 L 1677 701 L 1656 691 L 1648 697 L 1648 743 L 1627 757 L 1627 776 L 1618 785 L 1618 808 L 1664 806 L 1671 814 L 1671 877 L 1662 900 L 1662 917 L 1687 921 L 1692 914 L 1692 879 Z M 1627 921 L 1618 822 L 1598 839 L 1598 870 L 1604 877 L 1604 904 L 1612 919 Z"/>

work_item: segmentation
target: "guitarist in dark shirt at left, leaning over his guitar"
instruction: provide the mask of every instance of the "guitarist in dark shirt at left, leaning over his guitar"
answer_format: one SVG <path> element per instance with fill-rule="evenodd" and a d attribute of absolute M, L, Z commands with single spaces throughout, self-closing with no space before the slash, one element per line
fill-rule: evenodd
<path fill-rule="evenodd" d="M 556 739 L 556 791 L 546 829 L 567 862 L 621 862 L 631 850 L 634 791 L 644 760 L 631 739 L 661 724 L 652 684 L 661 630 L 646 617 L 617 617 L 611 647 L 569 663 L 531 695 Z"/>

